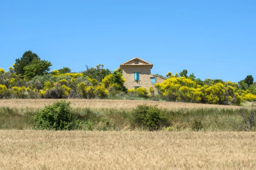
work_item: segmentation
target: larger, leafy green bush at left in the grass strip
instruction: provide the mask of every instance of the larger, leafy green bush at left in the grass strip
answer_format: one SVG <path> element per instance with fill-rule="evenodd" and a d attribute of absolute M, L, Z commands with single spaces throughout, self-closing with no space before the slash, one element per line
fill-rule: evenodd
<path fill-rule="evenodd" d="M 45 130 L 74 130 L 83 123 L 71 111 L 70 102 L 65 100 L 45 106 L 38 115 L 35 115 L 35 121 L 36 129 Z"/>

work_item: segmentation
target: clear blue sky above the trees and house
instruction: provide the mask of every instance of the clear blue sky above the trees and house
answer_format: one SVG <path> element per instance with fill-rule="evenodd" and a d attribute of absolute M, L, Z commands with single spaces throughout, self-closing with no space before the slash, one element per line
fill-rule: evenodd
<path fill-rule="evenodd" d="M 32 50 L 52 70 L 115 70 L 140 57 L 152 74 L 256 81 L 255 0 L 2 0 L 0 68 Z"/>

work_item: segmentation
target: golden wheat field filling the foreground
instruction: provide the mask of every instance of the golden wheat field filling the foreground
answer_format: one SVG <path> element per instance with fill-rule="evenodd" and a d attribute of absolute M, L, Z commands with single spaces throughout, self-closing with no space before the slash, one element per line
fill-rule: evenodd
<path fill-rule="evenodd" d="M 256 169 L 253 132 L 0 130 L 0 169 Z"/>

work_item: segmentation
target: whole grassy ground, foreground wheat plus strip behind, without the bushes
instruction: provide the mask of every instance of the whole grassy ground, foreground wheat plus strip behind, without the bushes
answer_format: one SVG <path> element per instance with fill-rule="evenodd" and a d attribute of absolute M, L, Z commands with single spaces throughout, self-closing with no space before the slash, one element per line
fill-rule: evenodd
<path fill-rule="evenodd" d="M 55 101 L 0 100 L 0 170 L 256 169 L 256 133 L 245 132 L 255 128 L 239 116 L 241 108 L 250 114 L 250 103 L 70 99 L 79 119 L 93 121 L 93 131 L 29 130 L 35 114 Z M 139 104 L 167 108 L 172 126 L 134 129 L 130 118 Z M 202 123 L 200 132 L 192 131 L 195 120 Z"/>

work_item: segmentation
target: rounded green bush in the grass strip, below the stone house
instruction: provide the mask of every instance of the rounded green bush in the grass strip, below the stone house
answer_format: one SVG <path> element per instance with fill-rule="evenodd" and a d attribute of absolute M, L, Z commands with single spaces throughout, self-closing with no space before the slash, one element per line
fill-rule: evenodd
<path fill-rule="evenodd" d="M 132 123 L 144 130 L 160 130 L 171 125 L 171 115 L 167 113 L 167 110 L 157 108 L 157 106 L 138 105 L 132 113 Z"/>

